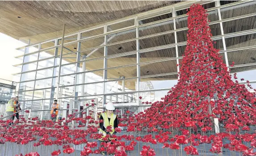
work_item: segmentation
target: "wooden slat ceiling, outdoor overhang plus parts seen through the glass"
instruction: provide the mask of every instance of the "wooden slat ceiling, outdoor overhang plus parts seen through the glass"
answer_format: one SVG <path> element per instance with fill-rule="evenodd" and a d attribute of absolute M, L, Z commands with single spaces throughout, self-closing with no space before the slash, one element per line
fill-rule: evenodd
<path fill-rule="evenodd" d="M 149 11 L 151 9 L 155 9 L 165 5 L 170 5 L 177 2 L 179 1 L 0 1 L 0 14 L 2 15 L 2 18 L 0 19 L 0 30 L 1 32 L 14 38 L 17 38 L 19 40 L 30 40 L 31 43 L 37 43 L 42 40 L 60 36 L 62 33 L 62 23 L 64 22 L 67 24 L 67 30 L 65 32 L 67 34 L 84 28 L 89 28 L 98 24 L 103 24 L 111 20 L 123 18 L 125 16 L 130 16 L 139 12 Z M 249 7 L 254 8 L 255 6 L 250 5 Z M 253 9 L 243 8 L 243 14 L 241 15 L 252 13 L 252 10 Z M 232 11 L 222 11 L 223 17 L 229 16 L 228 18 L 231 18 L 233 16 L 238 16 L 237 13 Z M 21 16 L 22 18 L 17 18 L 17 16 Z M 170 16 L 172 15 L 164 15 L 163 17 L 157 18 L 169 18 Z M 216 16 L 215 13 L 210 14 L 209 17 L 211 21 L 218 20 L 218 16 Z M 152 22 L 151 20 L 152 19 L 148 21 L 143 20 L 142 22 L 148 23 Z M 224 32 L 231 33 L 255 29 L 255 20 L 256 17 L 253 16 L 251 17 L 250 20 L 243 20 L 244 22 L 224 22 Z M 122 24 L 112 25 L 108 30 L 123 28 L 129 24 L 134 24 L 134 21 L 131 20 Z M 176 23 L 176 26 L 178 26 L 179 28 L 187 27 L 186 18 L 179 19 L 179 22 Z M 211 25 L 211 29 L 214 36 L 221 35 L 219 24 Z M 147 36 L 170 30 L 173 30 L 173 25 L 169 23 L 164 25 L 155 25 L 155 27 L 140 28 L 139 36 Z M 178 42 L 186 41 L 186 32 L 186 30 L 177 32 Z M 84 32 L 82 33 L 81 37 L 83 38 L 88 36 L 95 36 L 102 33 L 103 28 L 99 28 L 89 32 Z M 135 37 L 135 30 L 130 30 L 126 33 L 111 34 L 108 36 L 108 43 L 116 43 L 123 40 L 134 39 Z M 66 37 L 64 39 L 64 43 L 76 40 L 76 38 L 76 35 Z M 227 49 L 256 45 L 255 39 L 255 35 L 226 39 Z M 216 42 L 217 43 L 214 44 L 214 47 L 223 50 L 222 41 L 216 40 Z M 59 40 L 59 44 L 60 43 L 61 41 Z M 103 43 L 103 37 L 99 37 L 92 40 L 86 40 L 81 43 L 81 50 L 86 48 L 97 47 L 102 45 Z M 139 40 L 140 49 L 173 43 L 175 43 L 173 33 Z M 53 45 L 54 42 L 51 41 L 42 44 L 42 48 L 48 48 Z M 63 49 L 63 54 L 75 52 L 75 48 L 77 48 L 77 44 L 66 45 Z M 130 41 L 127 43 L 109 46 L 108 55 L 120 54 L 135 50 L 136 42 Z M 182 56 L 184 50 L 185 46 L 178 47 L 179 56 Z M 97 48 L 81 52 L 81 56 L 88 55 L 92 51 L 94 53 L 91 56 L 89 56 L 88 59 L 104 56 L 104 48 Z M 54 50 L 49 50 L 47 51 L 47 53 L 53 55 Z M 247 54 L 250 56 L 247 56 Z M 243 54 L 240 52 L 239 55 L 238 53 L 228 53 L 228 59 L 229 62 L 235 61 L 235 64 L 255 63 L 255 54 L 256 53 L 253 50 L 243 50 Z M 76 54 L 70 54 L 63 57 L 63 59 L 67 62 L 76 61 Z M 175 48 L 168 48 L 158 51 L 145 52 L 140 54 L 140 57 L 140 62 L 163 60 L 176 57 L 176 51 Z M 127 64 L 136 64 L 136 55 L 108 59 L 107 67 L 111 68 Z M 169 60 L 159 63 L 140 65 L 141 76 L 177 72 L 176 64 L 176 60 Z M 231 72 L 252 70 L 252 68 L 255 67 L 256 66 L 236 68 L 232 69 Z M 86 69 L 88 71 L 101 68 L 103 68 L 103 60 L 88 61 L 86 63 Z M 94 74 L 97 74 L 98 76 L 103 76 L 103 71 L 94 72 Z M 108 70 L 107 76 L 108 78 L 118 78 L 119 76 L 124 76 L 126 78 L 136 77 L 136 66 Z M 173 79 L 177 79 L 177 75 L 144 78 L 141 79 L 141 81 Z M 136 79 L 127 80 L 126 88 L 135 89 L 135 83 Z"/>

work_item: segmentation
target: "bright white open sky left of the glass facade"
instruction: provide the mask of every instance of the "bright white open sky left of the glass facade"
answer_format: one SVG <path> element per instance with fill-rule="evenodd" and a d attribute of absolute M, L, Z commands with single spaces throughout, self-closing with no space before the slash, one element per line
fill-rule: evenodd
<path fill-rule="evenodd" d="M 7 36 L 3 33 L 0 33 L 0 79 L 13 80 L 13 73 L 19 72 L 19 69 L 13 67 L 16 63 L 17 59 L 15 56 L 21 55 L 20 52 L 16 50 L 16 48 L 25 46 L 27 44 L 16 40 L 10 36 Z M 1 82 L 1 81 L 0 81 Z"/>

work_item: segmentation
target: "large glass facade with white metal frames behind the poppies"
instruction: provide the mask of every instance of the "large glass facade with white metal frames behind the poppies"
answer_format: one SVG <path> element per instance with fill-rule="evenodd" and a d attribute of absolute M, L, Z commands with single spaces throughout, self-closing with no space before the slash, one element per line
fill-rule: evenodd
<path fill-rule="evenodd" d="M 256 1 L 202 5 L 208 10 L 214 48 L 231 74 L 237 72 L 239 83 L 245 83 L 243 77 L 256 88 Z M 164 14 L 138 14 L 66 35 L 60 71 L 61 38 L 18 48 L 24 55 L 17 56 L 23 63 L 16 65 L 21 68 L 16 92 L 24 108 L 48 109 L 57 96 L 61 107 L 64 101 L 83 98 L 97 98 L 98 107 L 109 101 L 139 104 L 139 96 L 142 101 L 161 100 L 178 80 L 187 7 L 169 6 Z"/>

